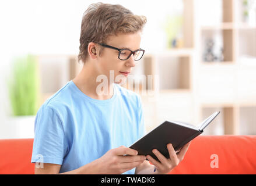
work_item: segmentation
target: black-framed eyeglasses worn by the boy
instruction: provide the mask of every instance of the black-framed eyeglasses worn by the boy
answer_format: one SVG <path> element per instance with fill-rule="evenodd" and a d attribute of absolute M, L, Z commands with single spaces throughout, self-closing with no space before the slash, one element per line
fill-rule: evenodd
<path fill-rule="evenodd" d="M 102 47 L 107 47 L 107 48 L 111 48 L 111 49 L 115 49 L 115 50 L 119 51 L 118 59 L 120 59 L 120 60 L 127 60 L 127 59 L 129 59 L 129 57 L 132 54 L 134 55 L 134 60 L 140 60 L 145 52 L 145 50 L 143 50 L 141 48 L 136 51 L 131 51 L 130 49 L 115 48 L 115 47 L 112 47 L 112 46 L 106 45 L 106 44 L 99 44 L 99 45 L 101 45 Z"/>

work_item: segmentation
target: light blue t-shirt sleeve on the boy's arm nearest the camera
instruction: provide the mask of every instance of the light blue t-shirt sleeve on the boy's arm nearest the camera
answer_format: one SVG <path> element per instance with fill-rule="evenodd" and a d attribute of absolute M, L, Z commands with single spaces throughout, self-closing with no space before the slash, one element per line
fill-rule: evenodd
<path fill-rule="evenodd" d="M 34 123 L 34 143 L 31 163 L 62 164 L 67 152 L 62 121 L 51 106 L 43 105 Z"/>

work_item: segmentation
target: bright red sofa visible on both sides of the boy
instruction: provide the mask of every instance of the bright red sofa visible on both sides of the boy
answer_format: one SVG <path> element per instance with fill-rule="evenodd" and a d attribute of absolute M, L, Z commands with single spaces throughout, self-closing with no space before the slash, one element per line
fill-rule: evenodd
<path fill-rule="evenodd" d="M 33 139 L 0 140 L 0 174 L 34 174 Z M 256 174 L 256 135 L 200 135 L 170 174 Z"/>

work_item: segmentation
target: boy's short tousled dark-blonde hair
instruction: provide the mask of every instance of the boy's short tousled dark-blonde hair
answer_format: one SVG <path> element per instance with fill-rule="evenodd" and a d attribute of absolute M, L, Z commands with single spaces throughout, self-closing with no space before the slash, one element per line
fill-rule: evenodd
<path fill-rule="evenodd" d="M 83 13 L 78 61 L 85 63 L 89 42 L 104 43 L 110 35 L 142 31 L 145 23 L 145 16 L 134 15 L 124 6 L 93 3 Z"/>

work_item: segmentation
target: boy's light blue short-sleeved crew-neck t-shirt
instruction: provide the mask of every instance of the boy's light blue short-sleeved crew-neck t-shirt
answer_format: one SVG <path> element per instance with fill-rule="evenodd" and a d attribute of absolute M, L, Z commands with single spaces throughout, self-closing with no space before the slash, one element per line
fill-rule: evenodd
<path fill-rule="evenodd" d="M 141 98 L 113 84 L 110 99 L 83 94 L 69 81 L 37 112 L 31 162 L 61 164 L 60 173 L 78 169 L 145 134 Z M 135 169 L 124 174 L 134 174 Z"/>

